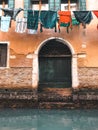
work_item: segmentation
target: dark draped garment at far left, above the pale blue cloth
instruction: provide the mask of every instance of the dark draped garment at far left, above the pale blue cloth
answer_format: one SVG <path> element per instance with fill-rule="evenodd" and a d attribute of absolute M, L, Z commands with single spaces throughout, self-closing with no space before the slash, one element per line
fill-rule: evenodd
<path fill-rule="evenodd" d="M 11 19 L 16 20 L 16 16 L 23 10 L 22 8 L 19 9 L 3 9 L 0 8 L 4 12 L 4 16 L 10 16 Z"/>

